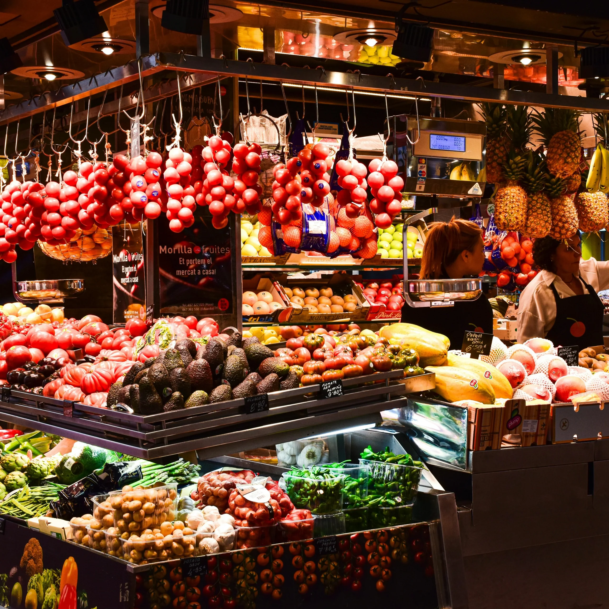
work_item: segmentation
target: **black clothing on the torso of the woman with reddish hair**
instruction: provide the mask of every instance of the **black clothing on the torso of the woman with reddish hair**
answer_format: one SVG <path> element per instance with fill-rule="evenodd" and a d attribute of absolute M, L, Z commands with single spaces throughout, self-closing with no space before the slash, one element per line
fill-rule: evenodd
<path fill-rule="evenodd" d="M 484 294 L 476 300 L 457 300 L 454 306 L 446 307 L 415 308 L 404 303 L 402 322 L 444 334 L 451 342 L 451 349 L 460 349 L 466 330 L 493 334 L 493 308 Z"/>

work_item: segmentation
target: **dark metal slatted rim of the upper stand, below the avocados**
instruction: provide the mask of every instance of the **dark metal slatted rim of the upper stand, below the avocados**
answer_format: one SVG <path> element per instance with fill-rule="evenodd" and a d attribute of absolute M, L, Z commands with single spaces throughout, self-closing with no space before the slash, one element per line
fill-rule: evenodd
<path fill-rule="evenodd" d="M 401 370 L 343 379 L 343 395 L 317 398 L 320 385 L 307 385 L 269 393 L 269 409 L 246 414 L 245 400 L 205 404 L 186 410 L 136 415 L 32 393 L 13 391 L 0 401 L 0 420 L 48 431 L 135 457 L 153 458 L 193 449 L 214 449 L 214 456 L 256 448 L 263 434 L 297 431 L 321 423 L 323 417 L 338 418 L 378 414 L 396 407 L 388 401 L 406 393 L 435 386 L 435 375 L 421 375 L 396 382 Z M 365 385 L 365 383 L 371 383 Z M 308 395 L 309 394 L 309 395 Z M 311 395 L 312 394 L 312 395 Z M 315 418 L 315 421 L 313 421 Z M 300 431 L 293 439 L 302 437 Z M 252 445 L 242 445 L 250 440 Z M 282 442 L 285 440 L 277 440 Z"/>

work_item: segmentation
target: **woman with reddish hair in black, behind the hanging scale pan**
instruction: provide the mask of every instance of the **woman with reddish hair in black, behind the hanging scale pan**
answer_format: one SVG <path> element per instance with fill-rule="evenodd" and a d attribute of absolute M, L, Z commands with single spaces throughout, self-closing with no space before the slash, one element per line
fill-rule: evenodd
<path fill-rule="evenodd" d="M 484 264 L 482 230 L 474 222 L 455 219 L 434 222 L 423 247 L 421 279 L 477 277 Z M 402 308 L 402 321 L 448 336 L 451 349 L 460 349 L 465 331 L 493 333 L 493 309 L 482 294 L 454 306 Z"/>

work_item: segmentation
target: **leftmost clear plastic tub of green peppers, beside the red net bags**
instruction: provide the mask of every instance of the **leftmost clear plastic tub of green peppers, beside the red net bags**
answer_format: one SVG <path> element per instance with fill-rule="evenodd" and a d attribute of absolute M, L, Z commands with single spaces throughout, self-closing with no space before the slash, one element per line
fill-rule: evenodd
<path fill-rule="evenodd" d="M 313 514 L 331 514 L 342 510 L 345 476 L 302 477 L 284 473 L 283 479 L 286 493 L 295 508 L 310 510 Z"/>

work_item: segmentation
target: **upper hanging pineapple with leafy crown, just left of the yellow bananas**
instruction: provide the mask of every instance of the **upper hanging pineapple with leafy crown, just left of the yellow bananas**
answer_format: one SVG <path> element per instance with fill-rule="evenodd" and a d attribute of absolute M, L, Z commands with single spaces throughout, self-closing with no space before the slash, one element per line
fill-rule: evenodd
<path fill-rule="evenodd" d="M 576 110 L 566 108 L 546 108 L 544 114 L 537 112 L 533 116 L 535 130 L 547 148 L 547 169 L 555 177 L 568 178 L 579 166 L 579 116 Z"/>

